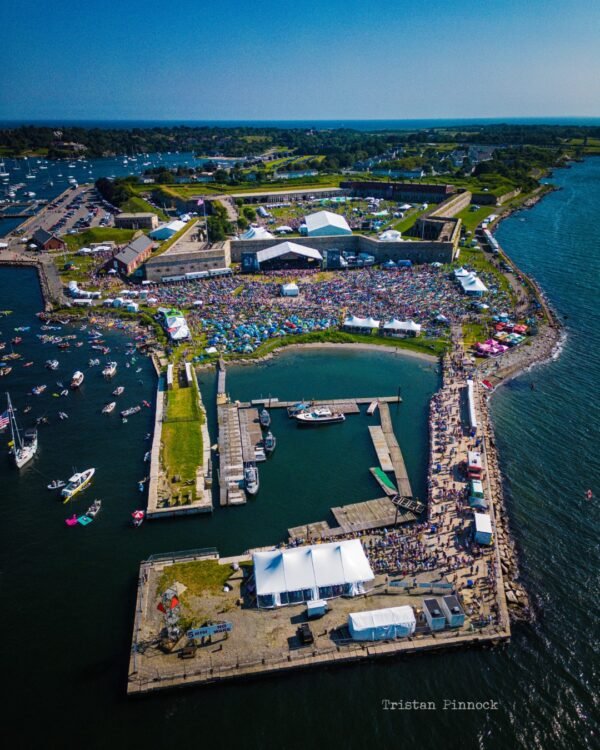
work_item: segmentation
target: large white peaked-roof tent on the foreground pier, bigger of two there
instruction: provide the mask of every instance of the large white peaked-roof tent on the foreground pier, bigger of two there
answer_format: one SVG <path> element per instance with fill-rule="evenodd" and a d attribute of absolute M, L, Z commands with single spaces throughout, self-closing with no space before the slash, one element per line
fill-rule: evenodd
<path fill-rule="evenodd" d="M 259 607 L 364 593 L 373 571 L 359 539 L 255 552 Z"/>

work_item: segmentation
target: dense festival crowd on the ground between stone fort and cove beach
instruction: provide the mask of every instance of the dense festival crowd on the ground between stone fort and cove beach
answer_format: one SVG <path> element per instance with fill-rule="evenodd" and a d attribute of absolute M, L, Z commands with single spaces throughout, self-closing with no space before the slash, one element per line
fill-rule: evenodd
<path fill-rule="evenodd" d="M 297 297 L 283 297 L 281 285 L 294 280 Z M 472 301 L 455 281 L 431 266 L 413 269 L 271 272 L 260 277 L 228 276 L 147 286 L 157 305 L 187 309 L 193 330 L 224 352 L 252 352 L 267 339 L 342 325 L 346 315 L 423 325 L 439 336 L 453 322 L 477 320 Z M 495 305 L 508 300 L 495 290 Z"/>

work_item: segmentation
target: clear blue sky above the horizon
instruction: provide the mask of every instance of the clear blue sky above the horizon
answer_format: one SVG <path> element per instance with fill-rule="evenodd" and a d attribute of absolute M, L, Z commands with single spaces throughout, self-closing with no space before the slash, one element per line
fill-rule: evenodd
<path fill-rule="evenodd" d="M 0 0 L 0 119 L 600 115 L 597 0 Z"/>

